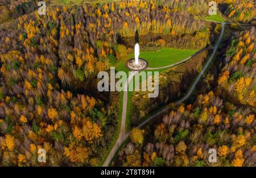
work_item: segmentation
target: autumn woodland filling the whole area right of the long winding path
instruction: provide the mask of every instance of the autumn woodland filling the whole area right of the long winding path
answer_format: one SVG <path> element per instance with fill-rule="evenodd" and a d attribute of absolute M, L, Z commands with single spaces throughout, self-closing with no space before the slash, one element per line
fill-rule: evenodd
<path fill-rule="evenodd" d="M 159 122 L 131 130 L 118 166 L 256 166 L 255 28 L 237 32 L 217 87 L 172 106 Z M 209 149 L 217 163 L 209 163 Z"/>

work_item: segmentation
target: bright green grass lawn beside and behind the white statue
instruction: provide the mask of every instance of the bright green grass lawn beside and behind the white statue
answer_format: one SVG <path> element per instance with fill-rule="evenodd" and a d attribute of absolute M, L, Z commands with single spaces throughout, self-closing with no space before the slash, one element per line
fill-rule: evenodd
<path fill-rule="evenodd" d="M 163 67 L 182 61 L 196 52 L 197 50 L 161 48 L 157 51 L 140 52 L 139 57 L 148 62 L 148 67 Z M 134 54 L 128 56 L 128 58 L 133 57 Z"/>

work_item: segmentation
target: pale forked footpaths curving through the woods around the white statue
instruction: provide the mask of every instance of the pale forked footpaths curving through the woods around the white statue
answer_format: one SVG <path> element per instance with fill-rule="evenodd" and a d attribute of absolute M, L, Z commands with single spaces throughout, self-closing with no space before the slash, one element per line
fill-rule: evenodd
<path fill-rule="evenodd" d="M 213 21 L 214 22 L 214 21 Z M 207 63 L 205 64 L 203 70 L 201 70 L 201 72 L 199 73 L 199 75 L 197 76 L 195 82 L 192 84 L 191 88 L 189 89 L 189 91 L 187 92 L 187 94 L 180 99 L 179 101 L 176 101 L 176 105 L 183 103 L 183 101 L 187 100 L 188 97 L 192 94 L 193 90 L 196 87 L 196 84 L 199 82 L 199 80 L 201 79 L 201 77 L 203 77 L 203 74 L 205 73 L 205 71 L 207 70 L 210 62 L 212 62 L 212 59 L 218 49 L 218 45 L 220 45 L 223 34 L 224 34 L 224 29 L 225 29 L 225 23 L 221 23 L 222 28 L 221 28 L 221 35 L 218 38 L 218 41 L 216 43 L 216 45 L 213 48 L 213 53 L 210 56 L 209 60 L 207 61 Z M 192 57 L 192 56 L 191 56 Z M 183 61 L 177 62 L 175 64 L 172 65 L 168 65 L 168 66 L 164 66 L 164 67 L 157 67 L 157 68 L 147 68 L 147 69 L 164 69 L 167 67 L 173 67 L 175 65 L 179 65 L 182 62 L 185 62 L 187 60 L 189 60 L 191 57 L 186 58 Z M 122 120 L 121 120 L 121 128 L 120 128 L 120 132 L 117 138 L 117 141 L 115 142 L 115 145 L 113 146 L 112 150 L 109 152 L 108 158 L 106 158 L 104 164 L 102 166 L 107 167 L 109 166 L 111 160 L 114 158 L 115 152 L 117 152 L 119 146 L 121 146 L 121 144 L 123 143 L 123 141 L 125 141 L 126 138 L 129 137 L 130 132 L 125 134 L 125 124 L 126 124 L 126 109 L 127 109 L 127 88 L 128 88 L 128 84 L 130 82 L 130 80 L 133 78 L 133 76 L 137 73 L 137 71 L 132 71 L 128 77 L 128 79 L 125 82 L 125 91 L 123 91 L 123 109 L 122 109 Z M 146 120 L 144 120 L 141 124 L 139 124 L 139 128 L 141 128 L 143 125 L 147 124 L 147 122 L 151 121 L 153 118 L 155 118 L 156 116 L 162 115 L 162 113 L 168 111 L 168 109 L 170 109 L 169 107 L 162 109 L 161 111 L 155 113 L 153 116 L 148 117 Z"/>

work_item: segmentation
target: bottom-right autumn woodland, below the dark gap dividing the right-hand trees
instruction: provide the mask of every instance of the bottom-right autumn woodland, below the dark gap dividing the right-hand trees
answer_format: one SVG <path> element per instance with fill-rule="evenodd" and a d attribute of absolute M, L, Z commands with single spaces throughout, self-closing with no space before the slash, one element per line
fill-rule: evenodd
<path fill-rule="evenodd" d="M 234 110 L 234 108 L 236 110 Z M 199 95 L 144 130 L 134 128 L 116 160 L 119 166 L 255 166 L 255 111 Z M 208 150 L 217 150 L 209 163 Z"/>

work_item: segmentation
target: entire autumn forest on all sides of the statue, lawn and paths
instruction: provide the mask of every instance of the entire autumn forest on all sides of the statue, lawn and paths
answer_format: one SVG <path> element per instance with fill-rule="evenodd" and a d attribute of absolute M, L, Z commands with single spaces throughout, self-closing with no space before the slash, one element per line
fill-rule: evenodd
<path fill-rule="evenodd" d="M 0 0 L 0 166 L 101 166 L 122 100 L 97 90 L 98 72 L 132 52 L 136 31 L 142 50 L 205 49 L 162 73 L 160 99 L 147 105 L 166 105 L 187 90 L 220 33 L 220 25 L 200 18 L 208 12 L 203 0 L 51 4 L 42 16 L 37 3 Z M 234 21 L 255 21 L 251 1 L 218 3 Z M 155 125 L 134 128 L 115 165 L 209 166 L 207 149 L 214 147 L 218 166 L 255 166 L 255 29 L 234 36 L 217 87 Z M 166 99 L 168 87 L 175 97 Z M 141 118 L 154 108 L 139 109 Z M 39 149 L 46 163 L 38 162 Z"/>

